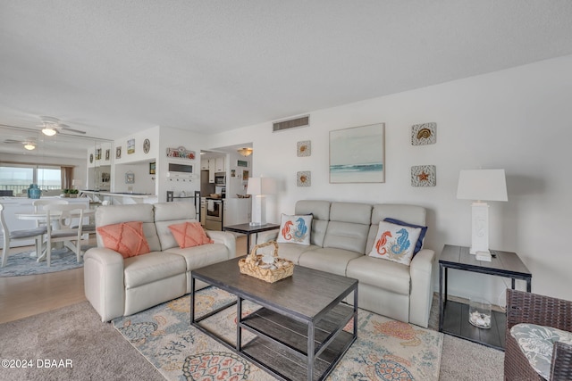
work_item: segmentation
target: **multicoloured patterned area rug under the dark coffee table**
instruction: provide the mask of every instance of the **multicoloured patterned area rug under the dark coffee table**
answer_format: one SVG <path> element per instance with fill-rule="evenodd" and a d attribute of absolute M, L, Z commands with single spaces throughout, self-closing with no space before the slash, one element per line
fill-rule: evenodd
<path fill-rule="evenodd" d="M 197 315 L 234 299 L 208 287 L 198 292 Z M 274 380 L 214 339 L 189 325 L 190 297 L 113 320 L 114 327 L 169 380 Z M 245 302 L 243 311 L 255 311 Z M 328 380 L 437 380 L 443 336 L 439 332 L 358 311 L 357 341 Z M 203 320 L 227 338 L 236 338 L 236 306 Z M 349 324 L 349 326 L 351 323 Z M 353 327 L 345 327 L 351 330 Z M 252 337 L 243 330 L 243 344 Z"/>

